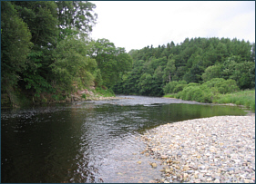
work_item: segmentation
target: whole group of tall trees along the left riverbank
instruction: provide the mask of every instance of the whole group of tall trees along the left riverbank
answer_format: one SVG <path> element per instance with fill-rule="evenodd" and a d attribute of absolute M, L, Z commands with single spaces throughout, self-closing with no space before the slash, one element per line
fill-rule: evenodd
<path fill-rule="evenodd" d="M 1 1 L 1 93 L 12 103 L 20 93 L 50 101 L 114 86 L 132 60 L 108 39 L 89 37 L 95 8 L 85 1 Z"/>

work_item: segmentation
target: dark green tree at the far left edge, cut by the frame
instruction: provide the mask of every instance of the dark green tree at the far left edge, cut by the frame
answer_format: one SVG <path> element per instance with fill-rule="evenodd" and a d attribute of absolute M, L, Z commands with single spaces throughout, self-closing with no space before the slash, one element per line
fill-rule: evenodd
<path fill-rule="evenodd" d="M 19 18 L 11 2 L 1 2 L 1 21 L 1 85 L 5 91 L 21 79 L 32 43 L 27 24 Z"/>

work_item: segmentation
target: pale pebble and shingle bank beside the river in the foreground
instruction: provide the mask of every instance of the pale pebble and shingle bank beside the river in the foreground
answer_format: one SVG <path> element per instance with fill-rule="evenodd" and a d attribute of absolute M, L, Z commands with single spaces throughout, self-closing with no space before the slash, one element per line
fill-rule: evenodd
<path fill-rule="evenodd" d="M 255 182 L 255 114 L 173 122 L 142 140 L 161 161 L 161 179 L 150 182 Z"/>

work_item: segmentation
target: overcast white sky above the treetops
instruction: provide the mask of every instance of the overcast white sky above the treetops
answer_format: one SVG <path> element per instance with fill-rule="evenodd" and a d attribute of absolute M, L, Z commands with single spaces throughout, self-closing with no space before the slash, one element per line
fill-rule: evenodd
<path fill-rule="evenodd" d="M 255 43 L 255 1 L 91 1 L 93 39 L 142 49 L 185 38 L 225 37 Z"/>

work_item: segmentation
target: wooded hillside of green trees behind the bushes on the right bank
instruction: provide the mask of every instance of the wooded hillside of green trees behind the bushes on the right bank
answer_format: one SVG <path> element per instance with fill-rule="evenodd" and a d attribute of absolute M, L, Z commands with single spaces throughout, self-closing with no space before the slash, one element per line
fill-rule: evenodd
<path fill-rule="evenodd" d="M 230 82 L 232 90 L 255 87 L 255 44 L 244 40 L 187 38 L 180 44 L 151 45 L 129 54 L 132 70 L 114 86 L 116 93 L 161 96 L 181 92 L 189 83 L 208 82 L 203 86 L 212 87 L 209 83 L 215 78 L 220 86 Z"/>

